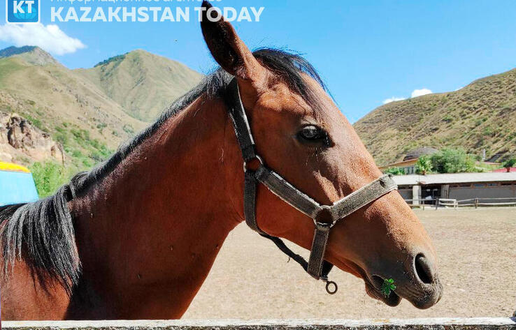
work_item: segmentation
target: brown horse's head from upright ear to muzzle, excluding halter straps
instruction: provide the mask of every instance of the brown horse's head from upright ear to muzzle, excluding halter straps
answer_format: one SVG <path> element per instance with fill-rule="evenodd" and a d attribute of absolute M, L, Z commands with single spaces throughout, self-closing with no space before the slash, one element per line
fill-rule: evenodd
<path fill-rule="evenodd" d="M 215 61 L 236 77 L 257 153 L 268 167 L 321 205 L 382 177 L 308 62 L 294 57 L 287 63 L 280 52 L 278 65 L 264 61 L 266 51 L 251 52 L 215 8 L 206 1 L 203 7 L 206 44 Z M 234 134 L 228 134 L 227 146 L 229 193 L 243 219 L 242 158 Z M 259 165 L 256 159 L 254 163 L 248 166 Z M 310 249 L 313 219 L 264 186 L 258 187 L 256 203 L 261 230 Z M 442 294 L 431 240 L 395 190 L 338 219 L 324 259 L 362 278 L 366 292 L 389 306 L 404 298 L 417 308 L 429 308 Z M 396 289 L 385 292 L 382 285 L 391 279 Z"/>

